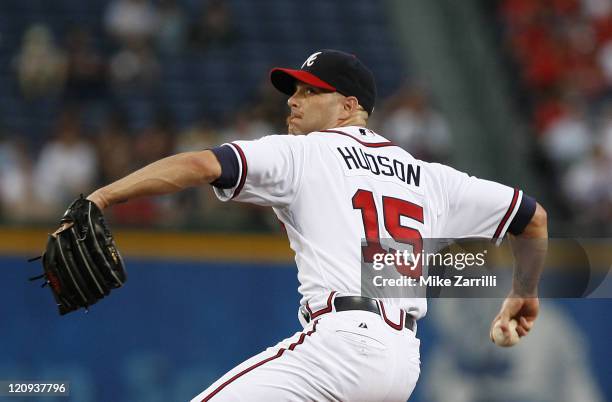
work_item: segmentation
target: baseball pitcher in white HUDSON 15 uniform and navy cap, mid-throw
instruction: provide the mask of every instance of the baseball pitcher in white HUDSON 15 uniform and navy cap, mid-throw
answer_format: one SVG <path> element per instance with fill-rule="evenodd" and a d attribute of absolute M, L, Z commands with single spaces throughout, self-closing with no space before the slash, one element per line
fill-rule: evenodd
<path fill-rule="evenodd" d="M 362 263 L 385 252 L 381 239 L 541 240 L 514 247 L 513 286 L 492 324 L 497 337 L 527 335 L 538 314 L 544 209 L 520 190 L 417 160 L 368 129 L 376 86 L 353 55 L 321 50 L 298 69 L 272 69 L 270 78 L 289 96 L 289 135 L 170 156 L 87 197 L 104 210 L 210 183 L 221 201 L 270 206 L 284 224 L 304 330 L 193 401 L 406 401 L 420 373 L 416 322 L 426 301 L 362 295 Z"/>

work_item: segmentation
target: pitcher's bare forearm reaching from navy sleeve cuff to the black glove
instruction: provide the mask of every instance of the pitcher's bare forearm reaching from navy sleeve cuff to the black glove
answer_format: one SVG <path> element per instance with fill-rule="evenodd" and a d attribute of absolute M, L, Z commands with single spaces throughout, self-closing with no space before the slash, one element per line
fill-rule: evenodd
<path fill-rule="evenodd" d="M 212 151 L 184 152 L 153 162 L 87 198 L 100 209 L 138 197 L 175 193 L 215 181 L 221 164 Z"/>

